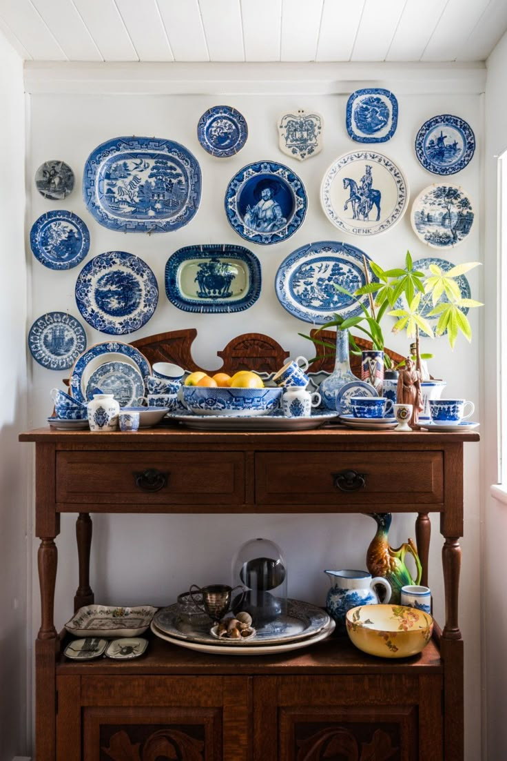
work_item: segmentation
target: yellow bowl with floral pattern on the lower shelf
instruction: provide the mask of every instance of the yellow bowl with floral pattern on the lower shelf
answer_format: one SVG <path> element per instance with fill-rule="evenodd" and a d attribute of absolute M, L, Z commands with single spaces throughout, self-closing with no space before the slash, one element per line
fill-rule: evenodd
<path fill-rule="evenodd" d="M 408 658 L 420 653 L 433 632 L 433 618 L 404 605 L 360 605 L 347 611 L 347 634 L 365 653 Z"/>

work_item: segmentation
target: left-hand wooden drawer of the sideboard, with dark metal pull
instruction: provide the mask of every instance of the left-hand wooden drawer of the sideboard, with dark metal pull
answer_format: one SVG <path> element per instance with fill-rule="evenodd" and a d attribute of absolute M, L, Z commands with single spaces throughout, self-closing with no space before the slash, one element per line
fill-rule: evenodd
<path fill-rule="evenodd" d="M 233 505 L 245 501 L 242 452 L 56 454 L 56 501 L 97 505 Z"/>

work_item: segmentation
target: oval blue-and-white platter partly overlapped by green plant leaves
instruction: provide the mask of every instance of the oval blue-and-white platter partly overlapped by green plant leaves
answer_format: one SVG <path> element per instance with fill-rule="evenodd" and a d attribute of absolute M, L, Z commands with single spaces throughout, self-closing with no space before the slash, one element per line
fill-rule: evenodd
<path fill-rule="evenodd" d="M 364 258 L 369 256 L 348 243 L 338 240 L 318 240 L 290 253 L 280 264 L 274 288 L 278 301 L 287 312 L 307 323 L 320 325 L 333 319 L 337 312 L 346 319 L 361 314 L 361 304 L 368 304 L 368 296 L 358 301 L 341 293 L 341 285 L 353 293 L 366 285 Z M 369 271 L 370 282 L 377 280 Z"/>

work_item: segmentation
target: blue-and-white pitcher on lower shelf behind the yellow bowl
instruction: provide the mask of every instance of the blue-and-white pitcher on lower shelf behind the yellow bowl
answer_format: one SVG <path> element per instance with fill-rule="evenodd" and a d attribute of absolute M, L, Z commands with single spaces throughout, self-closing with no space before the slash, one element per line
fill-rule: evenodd
<path fill-rule="evenodd" d="M 385 599 L 391 599 L 391 585 L 382 576 L 372 575 L 367 571 L 325 571 L 331 581 L 331 589 L 325 601 L 325 607 L 331 618 L 336 621 L 337 634 L 345 634 L 345 614 L 347 610 L 358 605 L 376 605 L 380 602 L 375 592 L 375 584 L 385 588 Z"/>

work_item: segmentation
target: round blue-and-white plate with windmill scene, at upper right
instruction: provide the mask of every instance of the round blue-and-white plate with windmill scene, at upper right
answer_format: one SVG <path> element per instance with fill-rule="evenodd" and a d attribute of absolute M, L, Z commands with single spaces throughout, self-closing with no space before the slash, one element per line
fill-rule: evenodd
<path fill-rule="evenodd" d="M 420 163 L 432 174 L 456 174 L 474 155 L 475 135 L 464 119 L 442 113 L 423 124 L 415 147 Z"/>

